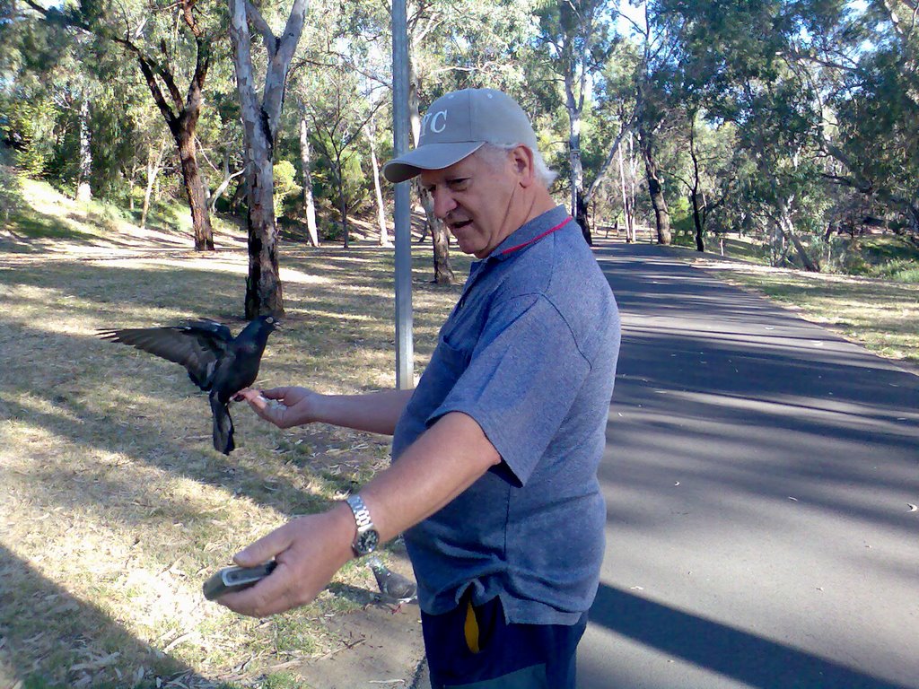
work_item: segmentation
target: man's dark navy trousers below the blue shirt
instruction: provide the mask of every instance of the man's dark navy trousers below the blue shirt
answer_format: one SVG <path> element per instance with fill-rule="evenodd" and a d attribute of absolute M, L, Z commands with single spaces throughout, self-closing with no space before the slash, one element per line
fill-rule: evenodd
<path fill-rule="evenodd" d="M 433 689 L 574 689 L 587 614 L 572 626 L 508 625 L 501 601 L 421 614 Z"/>

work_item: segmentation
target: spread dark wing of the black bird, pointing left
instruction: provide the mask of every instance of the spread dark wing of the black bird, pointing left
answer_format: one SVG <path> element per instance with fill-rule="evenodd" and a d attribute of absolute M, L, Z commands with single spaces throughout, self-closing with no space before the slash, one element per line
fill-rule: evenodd
<path fill-rule="evenodd" d="M 162 328 L 121 328 L 99 331 L 110 342 L 130 344 L 167 361 L 181 364 L 201 390 L 210 389 L 214 367 L 233 341 L 230 329 L 213 321 Z"/>

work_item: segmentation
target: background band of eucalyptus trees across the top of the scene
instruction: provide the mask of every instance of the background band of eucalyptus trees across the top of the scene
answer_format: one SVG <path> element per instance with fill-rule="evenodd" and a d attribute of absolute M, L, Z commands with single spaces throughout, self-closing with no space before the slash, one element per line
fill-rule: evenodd
<path fill-rule="evenodd" d="M 413 132 L 450 89 L 505 89 L 586 241 L 641 224 L 702 251 L 741 232 L 821 270 L 840 232 L 919 243 L 917 16 L 916 0 L 410 0 Z M 369 0 L 0 0 L 0 210 L 14 167 L 141 221 L 183 198 L 201 251 L 212 213 L 244 214 L 247 314 L 282 312 L 253 273 L 278 219 L 348 246 L 349 219 L 373 218 L 390 241 L 390 56 Z M 450 281 L 447 232 L 415 198 Z"/>

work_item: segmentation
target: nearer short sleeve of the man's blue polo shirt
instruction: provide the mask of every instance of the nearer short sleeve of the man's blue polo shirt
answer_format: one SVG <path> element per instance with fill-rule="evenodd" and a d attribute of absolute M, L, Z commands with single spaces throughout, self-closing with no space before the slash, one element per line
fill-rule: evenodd
<path fill-rule="evenodd" d="M 539 295 L 494 305 L 469 365 L 427 418 L 463 412 L 523 486 L 572 407 L 590 364 L 562 314 Z"/>

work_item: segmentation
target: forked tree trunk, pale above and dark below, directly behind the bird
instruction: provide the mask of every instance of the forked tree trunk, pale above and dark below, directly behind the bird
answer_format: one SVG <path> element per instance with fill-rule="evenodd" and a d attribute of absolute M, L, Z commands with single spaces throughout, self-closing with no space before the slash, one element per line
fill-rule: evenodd
<path fill-rule="evenodd" d="M 274 35 L 254 5 L 246 0 L 229 0 L 229 3 L 236 88 L 244 122 L 249 206 L 246 214 L 249 275 L 245 282 L 245 317 L 251 320 L 263 314 L 280 316 L 284 313 L 273 198 L 274 148 L 290 60 L 303 32 L 306 0 L 294 0 L 281 38 Z M 255 96 L 252 36 L 248 21 L 252 21 L 255 30 L 261 34 L 268 53 L 261 102 Z"/>

